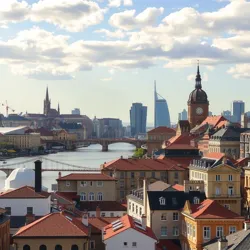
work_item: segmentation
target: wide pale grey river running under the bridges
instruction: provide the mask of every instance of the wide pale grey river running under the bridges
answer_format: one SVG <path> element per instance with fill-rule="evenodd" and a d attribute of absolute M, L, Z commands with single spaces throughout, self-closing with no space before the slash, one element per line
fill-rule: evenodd
<path fill-rule="evenodd" d="M 46 158 L 68 163 L 76 166 L 99 168 L 104 162 L 108 162 L 117 159 L 121 156 L 124 158 L 131 156 L 135 147 L 127 143 L 115 143 L 109 145 L 108 152 L 102 152 L 100 145 L 90 145 L 89 147 L 80 148 L 74 152 L 60 152 L 57 154 L 46 155 Z M 29 160 L 29 157 L 14 158 L 7 161 L 7 164 L 16 163 L 16 167 L 32 167 L 34 163 L 20 164 Z M 2 164 L 0 162 L 0 164 Z M 44 161 L 43 164 L 46 167 L 53 167 L 55 163 L 49 163 Z M 55 166 L 55 165 L 54 165 Z M 70 172 L 62 172 L 62 175 L 69 174 Z M 58 177 L 58 172 L 43 172 L 42 173 L 42 184 L 51 190 L 51 185 L 56 183 L 56 178 Z M 4 187 L 4 180 L 6 175 L 4 172 L 0 171 L 0 189 Z"/>

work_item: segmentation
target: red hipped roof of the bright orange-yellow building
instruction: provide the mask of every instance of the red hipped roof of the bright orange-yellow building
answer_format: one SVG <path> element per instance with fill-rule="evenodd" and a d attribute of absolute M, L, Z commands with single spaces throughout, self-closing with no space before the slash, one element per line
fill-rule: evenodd
<path fill-rule="evenodd" d="M 242 219 L 243 217 L 220 205 L 215 200 L 204 200 L 200 204 L 191 205 L 190 216 L 196 219 Z"/>

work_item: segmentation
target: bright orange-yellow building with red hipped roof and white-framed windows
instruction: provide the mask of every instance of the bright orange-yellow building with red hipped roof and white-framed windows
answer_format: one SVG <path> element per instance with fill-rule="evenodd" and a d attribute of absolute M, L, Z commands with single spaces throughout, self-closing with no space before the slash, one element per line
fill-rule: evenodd
<path fill-rule="evenodd" d="M 244 218 L 217 201 L 207 199 L 200 204 L 190 204 L 187 200 L 181 220 L 182 249 L 202 250 L 204 243 L 241 230 Z"/>

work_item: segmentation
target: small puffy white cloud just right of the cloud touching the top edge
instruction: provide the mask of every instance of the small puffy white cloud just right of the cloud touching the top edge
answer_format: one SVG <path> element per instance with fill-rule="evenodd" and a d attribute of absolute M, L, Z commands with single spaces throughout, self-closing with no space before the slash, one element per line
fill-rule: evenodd
<path fill-rule="evenodd" d="M 147 8 L 135 16 L 136 10 L 126 10 L 113 14 L 109 19 L 109 23 L 124 30 L 143 28 L 155 25 L 157 17 L 162 15 L 163 11 L 163 8 Z"/>

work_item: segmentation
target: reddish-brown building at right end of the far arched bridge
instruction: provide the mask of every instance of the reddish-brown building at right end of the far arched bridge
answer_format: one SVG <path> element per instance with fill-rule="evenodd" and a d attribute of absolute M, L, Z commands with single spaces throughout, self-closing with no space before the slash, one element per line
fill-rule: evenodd
<path fill-rule="evenodd" d="M 162 143 L 176 135 L 176 131 L 168 127 L 157 127 L 147 132 L 147 154 L 153 155 L 161 149 Z"/>

